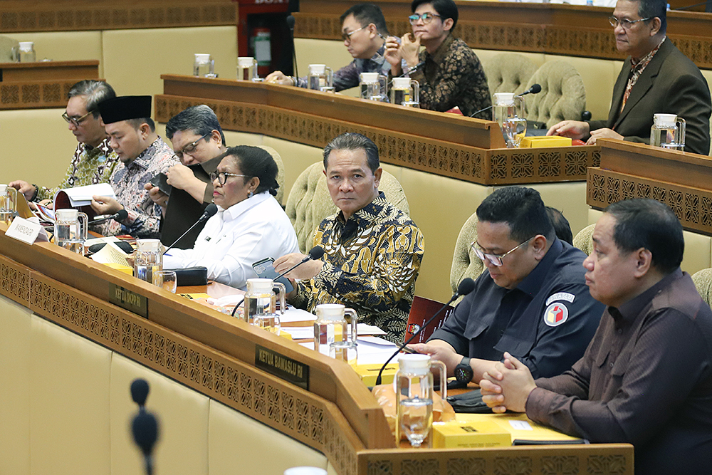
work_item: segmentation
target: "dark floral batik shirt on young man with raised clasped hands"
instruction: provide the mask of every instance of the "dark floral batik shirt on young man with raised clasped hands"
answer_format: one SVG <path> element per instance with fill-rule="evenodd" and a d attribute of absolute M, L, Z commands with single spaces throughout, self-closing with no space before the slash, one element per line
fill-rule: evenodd
<path fill-rule="evenodd" d="M 463 115 L 492 119 L 487 77 L 467 43 L 449 35 L 435 53 L 422 51 L 419 58 L 425 66 L 409 75 L 420 83 L 422 109 L 444 112 L 457 106 Z"/>

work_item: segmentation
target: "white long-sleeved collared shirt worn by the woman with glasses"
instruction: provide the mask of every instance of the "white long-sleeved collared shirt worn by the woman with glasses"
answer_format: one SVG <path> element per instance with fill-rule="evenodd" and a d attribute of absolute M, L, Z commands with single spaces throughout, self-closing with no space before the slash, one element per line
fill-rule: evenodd
<path fill-rule="evenodd" d="M 256 278 L 252 264 L 299 252 L 297 235 L 286 213 L 268 192 L 256 194 L 218 212 L 205 224 L 193 249 L 171 249 L 163 268 L 203 266 L 208 278 L 236 288 Z"/>

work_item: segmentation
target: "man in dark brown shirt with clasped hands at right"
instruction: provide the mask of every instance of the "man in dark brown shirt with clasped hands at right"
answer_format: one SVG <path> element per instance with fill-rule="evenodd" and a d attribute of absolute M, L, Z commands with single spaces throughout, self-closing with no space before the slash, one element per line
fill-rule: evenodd
<path fill-rule="evenodd" d="M 608 308 L 582 359 L 535 381 L 505 354 L 483 400 L 591 442 L 629 442 L 637 474 L 710 473 L 712 310 L 679 268 L 679 221 L 631 199 L 606 209 L 593 242 L 586 282 Z"/>

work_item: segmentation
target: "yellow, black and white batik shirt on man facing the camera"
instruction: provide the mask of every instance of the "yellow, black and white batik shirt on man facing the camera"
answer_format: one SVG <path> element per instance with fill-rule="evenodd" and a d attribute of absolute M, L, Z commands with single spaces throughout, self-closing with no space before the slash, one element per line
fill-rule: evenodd
<path fill-rule="evenodd" d="M 423 234 L 409 216 L 379 194 L 347 220 L 338 212 L 322 221 L 313 244 L 323 247 L 324 266 L 298 282 L 293 305 L 314 312 L 320 303 L 342 303 L 359 322 L 402 343 L 424 253 Z"/>

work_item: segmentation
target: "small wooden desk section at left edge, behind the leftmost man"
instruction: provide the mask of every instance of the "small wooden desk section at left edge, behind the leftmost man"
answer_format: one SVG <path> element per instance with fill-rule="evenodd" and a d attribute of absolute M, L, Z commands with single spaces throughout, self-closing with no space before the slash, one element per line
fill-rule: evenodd
<path fill-rule="evenodd" d="M 63 108 L 70 88 L 99 78 L 99 61 L 0 63 L 0 110 Z"/>

